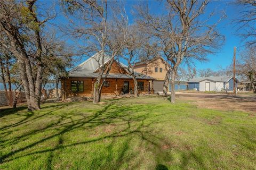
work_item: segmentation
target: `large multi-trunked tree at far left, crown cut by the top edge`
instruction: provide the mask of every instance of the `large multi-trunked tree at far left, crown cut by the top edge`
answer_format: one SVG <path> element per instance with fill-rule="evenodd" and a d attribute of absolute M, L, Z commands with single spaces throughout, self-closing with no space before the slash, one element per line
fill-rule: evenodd
<path fill-rule="evenodd" d="M 52 8 L 38 16 L 36 0 L 0 2 L 0 44 L 18 60 L 28 109 L 40 109 L 45 64 L 42 36 L 45 24 L 54 18 Z M 39 4 L 38 4 L 39 5 Z M 42 12 L 43 11 L 43 12 Z"/>

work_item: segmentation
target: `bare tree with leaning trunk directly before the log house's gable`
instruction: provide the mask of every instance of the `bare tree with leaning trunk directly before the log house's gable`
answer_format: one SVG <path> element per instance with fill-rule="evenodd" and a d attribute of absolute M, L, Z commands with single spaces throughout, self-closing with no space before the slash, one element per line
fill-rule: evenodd
<path fill-rule="evenodd" d="M 72 36 L 80 38 L 86 52 L 98 53 L 98 77 L 93 86 L 93 103 L 100 101 L 101 89 L 111 65 L 127 39 L 128 18 L 124 8 L 113 1 L 66 1 L 63 3 L 70 21 Z"/>

